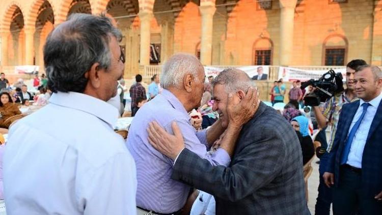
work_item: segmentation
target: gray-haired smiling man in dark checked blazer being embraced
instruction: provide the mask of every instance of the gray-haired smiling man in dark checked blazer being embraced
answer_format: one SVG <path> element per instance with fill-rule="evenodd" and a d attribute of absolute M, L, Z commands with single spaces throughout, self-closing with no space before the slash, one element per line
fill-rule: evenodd
<path fill-rule="evenodd" d="M 220 113 L 222 125 L 232 123 L 227 117 L 229 100 L 245 100 L 252 83 L 247 74 L 237 69 L 224 70 L 215 77 L 212 109 Z M 216 214 L 310 214 L 301 146 L 295 131 L 262 102 L 251 115 L 250 121 L 240 127 L 237 141 L 231 142 L 235 153 L 227 167 L 211 166 L 184 147 L 182 133 L 176 126 L 175 135 L 170 135 L 152 124 L 149 137 L 154 148 L 176 159 L 172 179 L 215 197 Z"/>

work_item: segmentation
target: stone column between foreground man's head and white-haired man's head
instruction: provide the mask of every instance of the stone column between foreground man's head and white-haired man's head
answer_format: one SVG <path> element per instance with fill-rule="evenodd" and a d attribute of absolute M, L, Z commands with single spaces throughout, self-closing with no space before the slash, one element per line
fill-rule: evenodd
<path fill-rule="evenodd" d="M 152 11 L 144 10 L 138 13 L 141 21 L 140 36 L 140 66 L 150 65 L 150 22 L 153 17 Z"/>

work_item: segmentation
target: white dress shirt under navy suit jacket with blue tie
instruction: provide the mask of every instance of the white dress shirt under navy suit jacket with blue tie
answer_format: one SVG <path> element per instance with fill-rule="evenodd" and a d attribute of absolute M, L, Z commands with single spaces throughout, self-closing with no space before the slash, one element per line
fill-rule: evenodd
<path fill-rule="evenodd" d="M 347 157 L 346 164 L 352 167 L 362 168 L 362 155 L 364 153 L 366 139 L 369 134 L 371 123 L 373 122 L 374 116 L 377 112 L 381 99 L 382 99 L 382 93 L 379 94 L 379 96 L 375 97 L 373 100 L 368 102 L 371 105 L 367 108 L 366 114 L 364 118 L 362 119 L 360 127 L 358 127 L 358 130 L 356 131 L 356 134 L 354 135 L 353 141 L 351 142 L 349 155 Z M 361 117 L 363 112 L 363 106 L 361 105 L 363 103 L 365 103 L 365 101 L 361 99 L 360 106 L 358 107 L 356 115 L 354 115 L 353 120 L 351 121 L 351 125 L 347 135 L 349 135 L 351 128 L 353 128 L 354 124 L 356 124 L 358 119 Z"/>

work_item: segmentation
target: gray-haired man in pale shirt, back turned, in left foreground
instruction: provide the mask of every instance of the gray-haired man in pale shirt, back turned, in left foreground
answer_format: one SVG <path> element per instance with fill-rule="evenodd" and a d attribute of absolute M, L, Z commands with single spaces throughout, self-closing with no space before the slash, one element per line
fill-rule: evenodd
<path fill-rule="evenodd" d="M 4 157 L 7 214 L 137 214 L 135 164 L 106 103 L 123 76 L 111 20 L 72 15 L 48 36 L 49 104 L 13 125 Z M 44 125 L 44 126 L 42 126 Z"/>

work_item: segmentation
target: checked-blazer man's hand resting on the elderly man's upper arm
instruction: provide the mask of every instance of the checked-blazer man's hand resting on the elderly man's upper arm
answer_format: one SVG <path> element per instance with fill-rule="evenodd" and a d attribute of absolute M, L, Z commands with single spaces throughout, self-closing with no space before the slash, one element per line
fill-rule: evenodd
<path fill-rule="evenodd" d="M 157 122 L 150 122 L 147 128 L 149 134 L 147 139 L 152 147 L 175 160 L 185 146 L 182 133 L 176 122 L 172 122 L 171 127 L 174 135 L 168 133 Z"/>

